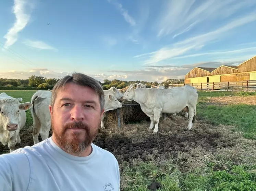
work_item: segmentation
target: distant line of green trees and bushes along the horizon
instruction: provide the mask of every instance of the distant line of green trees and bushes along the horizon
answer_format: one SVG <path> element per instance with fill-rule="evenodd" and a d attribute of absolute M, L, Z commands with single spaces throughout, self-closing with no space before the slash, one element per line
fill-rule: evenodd
<path fill-rule="evenodd" d="M 45 78 L 43 76 L 29 76 L 28 79 L 9 79 L 9 78 L 0 78 L 0 90 L 43 90 L 43 89 L 52 89 L 53 86 L 58 82 L 60 78 Z M 119 79 L 108 80 L 104 79 L 103 83 L 99 82 L 102 85 L 104 90 L 107 90 L 111 87 L 116 87 L 118 89 L 125 88 L 130 84 L 142 83 L 147 84 L 147 88 L 151 85 L 157 86 L 162 84 L 168 86 L 168 84 L 182 84 L 184 79 L 167 79 L 165 82 L 147 82 L 147 81 L 124 81 Z"/>

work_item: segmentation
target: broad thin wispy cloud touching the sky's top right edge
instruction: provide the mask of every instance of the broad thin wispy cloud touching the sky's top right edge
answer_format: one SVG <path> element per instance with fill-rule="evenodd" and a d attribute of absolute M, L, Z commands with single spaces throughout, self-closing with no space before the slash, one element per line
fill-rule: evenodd
<path fill-rule="evenodd" d="M 202 2 L 201 4 L 198 4 Z M 225 19 L 237 11 L 246 11 L 256 4 L 253 0 L 170 0 L 163 4 L 157 29 L 158 37 L 173 34 L 173 37 L 188 32 L 203 21 L 212 22 L 214 19 Z M 243 10 L 244 9 L 244 10 Z M 198 26 L 200 27 L 200 26 Z"/>

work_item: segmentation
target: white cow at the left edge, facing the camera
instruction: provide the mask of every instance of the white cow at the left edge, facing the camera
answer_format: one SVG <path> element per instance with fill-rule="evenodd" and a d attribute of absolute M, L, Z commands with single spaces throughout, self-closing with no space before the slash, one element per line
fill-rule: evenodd
<path fill-rule="evenodd" d="M 15 145 L 21 143 L 20 130 L 24 127 L 26 110 L 32 107 L 29 102 L 20 103 L 22 98 L 13 98 L 6 93 L 0 93 L 0 141 L 7 145 L 10 152 Z"/>

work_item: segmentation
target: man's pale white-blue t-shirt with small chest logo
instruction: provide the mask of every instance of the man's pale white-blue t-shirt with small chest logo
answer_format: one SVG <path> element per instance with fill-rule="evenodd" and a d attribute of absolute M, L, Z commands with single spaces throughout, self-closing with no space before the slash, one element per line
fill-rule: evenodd
<path fill-rule="evenodd" d="M 87 157 L 70 155 L 52 137 L 0 155 L 1 191 L 120 191 L 118 161 L 92 144 Z"/>

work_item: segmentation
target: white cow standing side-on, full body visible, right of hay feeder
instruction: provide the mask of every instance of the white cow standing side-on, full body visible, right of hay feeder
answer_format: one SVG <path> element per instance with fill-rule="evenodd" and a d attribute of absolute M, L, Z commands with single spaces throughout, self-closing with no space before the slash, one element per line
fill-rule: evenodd
<path fill-rule="evenodd" d="M 198 93 L 194 88 L 190 86 L 170 89 L 137 87 L 137 83 L 130 86 L 123 94 L 123 100 L 134 100 L 141 105 L 142 111 L 150 117 L 149 129 L 153 129 L 155 121 L 154 134 L 158 132 L 161 112 L 173 114 L 182 110 L 187 111 L 190 119 L 187 129 L 193 127 L 193 123 L 196 120 L 196 104 L 198 99 Z"/>

